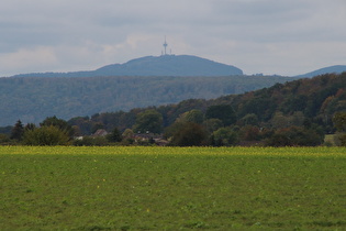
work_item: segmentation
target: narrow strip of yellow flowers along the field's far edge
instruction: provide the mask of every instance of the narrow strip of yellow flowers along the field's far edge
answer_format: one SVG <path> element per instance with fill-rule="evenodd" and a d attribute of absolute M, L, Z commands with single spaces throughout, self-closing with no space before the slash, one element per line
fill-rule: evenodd
<path fill-rule="evenodd" d="M 346 157 L 346 147 L 0 146 L 1 154 L 264 155 Z"/>

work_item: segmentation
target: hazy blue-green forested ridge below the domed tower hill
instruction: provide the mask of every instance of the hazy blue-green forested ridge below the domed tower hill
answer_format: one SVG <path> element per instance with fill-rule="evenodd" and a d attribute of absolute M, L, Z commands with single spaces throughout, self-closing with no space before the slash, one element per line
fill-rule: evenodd
<path fill-rule="evenodd" d="M 16 77 L 0 78 L 0 127 L 38 123 L 56 116 L 68 120 L 99 112 L 212 99 L 243 94 L 294 78 L 226 77 Z"/>

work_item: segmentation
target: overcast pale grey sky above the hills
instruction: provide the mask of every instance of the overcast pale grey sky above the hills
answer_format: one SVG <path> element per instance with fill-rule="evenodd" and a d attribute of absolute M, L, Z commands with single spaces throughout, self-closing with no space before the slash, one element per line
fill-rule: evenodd
<path fill-rule="evenodd" d="M 298 75 L 346 65 L 346 0 L 2 0 L 0 76 L 74 72 L 163 51 Z"/>

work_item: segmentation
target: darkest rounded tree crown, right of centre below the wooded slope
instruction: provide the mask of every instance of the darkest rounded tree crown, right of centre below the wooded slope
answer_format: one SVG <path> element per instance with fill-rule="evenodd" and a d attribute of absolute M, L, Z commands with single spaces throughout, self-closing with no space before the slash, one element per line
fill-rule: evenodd
<path fill-rule="evenodd" d="M 209 107 L 205 112 L 205 118 L 219 119 L 223 122 L 225 127 L 236 122 L 235 111 L 230 105 L 219 105 Z"/>

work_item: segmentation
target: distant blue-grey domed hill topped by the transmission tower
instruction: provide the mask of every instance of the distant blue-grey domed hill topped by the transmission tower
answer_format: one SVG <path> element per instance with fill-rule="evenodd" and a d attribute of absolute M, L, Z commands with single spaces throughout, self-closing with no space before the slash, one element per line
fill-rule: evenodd
<path fill-rule="evenodd" d="M 14 77 L 94 77 L 94 76 L 237 76 L 243 70 L 192 55 L 146 56 L 125 64 L 112 64 L 89 72 L 34 73 Z"/>

